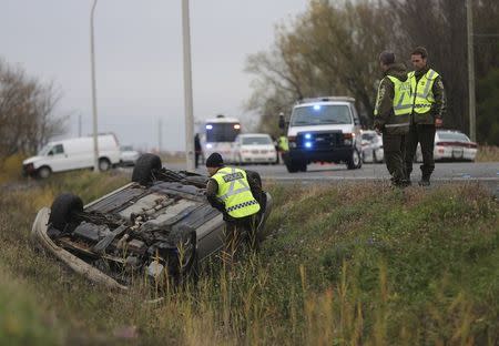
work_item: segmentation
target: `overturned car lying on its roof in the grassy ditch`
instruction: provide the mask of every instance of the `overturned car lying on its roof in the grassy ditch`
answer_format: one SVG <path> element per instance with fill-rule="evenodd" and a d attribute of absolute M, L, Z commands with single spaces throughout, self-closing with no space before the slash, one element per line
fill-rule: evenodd
<path fill-rule="evenodd" d="M 259 175 L 248 171 L 262 186 Z M 132 182 L 83 206 L 73 194 L 58 196 L 38 212 L 32 238 L 77 273 L 111 288 L 126 289 L 133 277 L 154 283 L 181 279 L 223 248 L 225 222 L 204 195 L 208 177 L 162 166 L 142 155 Z M 261 192 L 256 236 L 272 211 Z"/>

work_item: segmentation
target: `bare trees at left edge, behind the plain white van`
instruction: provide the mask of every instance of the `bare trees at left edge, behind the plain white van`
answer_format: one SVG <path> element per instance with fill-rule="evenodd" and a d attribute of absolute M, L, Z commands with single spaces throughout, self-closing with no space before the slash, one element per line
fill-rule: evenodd
<path fill-rule="evenodd" d="M 67 118 L 55 113 L 60 98 L 53 83 L 0 60 L 0 157 L 35 153 L 62 134 Z"/>

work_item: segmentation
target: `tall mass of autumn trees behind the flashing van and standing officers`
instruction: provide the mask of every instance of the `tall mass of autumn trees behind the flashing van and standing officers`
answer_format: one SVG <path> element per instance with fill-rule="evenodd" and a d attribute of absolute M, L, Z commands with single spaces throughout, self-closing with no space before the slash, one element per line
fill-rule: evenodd
<path fill-rule="evenodd" d="M 499 2 L 473 2 L 477 139 L 499 144 Z M 352 95 L 363 123 L 373 122 L 376 88 L 383 78 L 378 55 L 391 50 L 410 65 L 424 45 L 442 75 L 445 128 L 468 133 L 467 19 L 465 0 L 310 1 L 294 20 L 276 27 L 267 51 L 247 58 L 254 75 L 247 109 L 262 115 L 262 131 L 278 134 L 276 116 L 296 100 Z"/>

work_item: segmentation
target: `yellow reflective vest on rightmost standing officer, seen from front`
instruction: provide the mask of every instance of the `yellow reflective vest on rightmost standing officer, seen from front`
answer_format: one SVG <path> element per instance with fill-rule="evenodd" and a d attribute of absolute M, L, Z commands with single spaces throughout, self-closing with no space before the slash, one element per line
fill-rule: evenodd
<path fill-rule="evenodd" d="M 435 103 L 434 96 L 434 83 L 435 79 L 438 77 L 438 72 L 429 69 L 418 82 L 416 82 L 415 72 L 409 72 L 407 74 L 410 81 L 410 91 L 413 94 L 413 106 L 414 112 L 418 114 L 428 113 L 431 110 L 431 104 Z"/>

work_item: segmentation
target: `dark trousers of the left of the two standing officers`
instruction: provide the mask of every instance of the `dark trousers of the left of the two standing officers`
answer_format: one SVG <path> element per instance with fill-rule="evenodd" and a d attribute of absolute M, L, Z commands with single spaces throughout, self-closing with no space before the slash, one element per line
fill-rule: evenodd
<path fill-rule="evenodd" d="M 404 156 L 406 149 L 406 134 L 391 134 L 383 132 L 383 150 L 388 172 L 394 184 L 401 184 L 406 180 Z"/>

